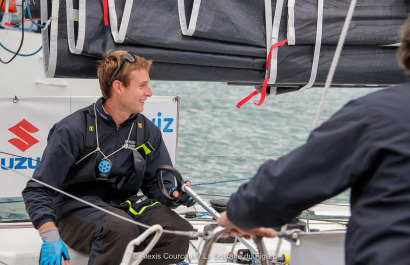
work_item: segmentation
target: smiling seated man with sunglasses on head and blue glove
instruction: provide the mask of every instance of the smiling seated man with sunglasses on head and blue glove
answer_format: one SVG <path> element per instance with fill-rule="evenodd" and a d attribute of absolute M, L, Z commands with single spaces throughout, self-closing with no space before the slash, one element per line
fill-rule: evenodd
<path fill-rule="evenodd" d="M 122 217 L 189 231 L 191 224 L 169 207 L 195 201 L 182 194 L 176 204 L 156 182 L 157 167 L 172 163 L 160 130 L 141 114 L 152 96 L 151 64 L 125 51 L 104 58 L 98 67 L 102 98 L 53 126 L 33 178 Z M 163 180 L 171 193 L 174 177 L 164 174 Z M 33 180 L 23 197 L 43 239 L 40 264 L 60 264 L 62 255 L 69 259 L 63 241 L 89 253 L 89 265 L 120 264 L 127 244 L 144 231 Z M 177 263 L 158 259 L 183 257 L 188 248 L 188 237 L 163 234 L 142 264 Z"/>

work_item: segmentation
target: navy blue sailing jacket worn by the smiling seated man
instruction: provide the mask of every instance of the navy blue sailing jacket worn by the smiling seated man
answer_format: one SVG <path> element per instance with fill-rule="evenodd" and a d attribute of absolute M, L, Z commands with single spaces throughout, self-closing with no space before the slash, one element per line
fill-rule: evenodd
<path fill-rule="evenodd" d="M 93 105 L 86 108 L 94 115 Z M 96 178 L 96 166 L 103 158 L 95 152 L 76 164 L 85 155 L 86 122 L 84 110 L 79 110 L 62 119 L 50 130 L 47 147 L 41 162 L 34 171 L 33 178 L 53 187 L 62 189 L 75 196 L 98 197 L 108 203 L 123 202 L 127 197 L 141 190 L 148 198 L 164 204 L 171 202 L 161 195 L 156 183 L 156 170 L 159 165 L 172 165 L 161 131 L 144 117 L 144 143 L 149 142 L 154 151 L 146 157 L 145 173 L 136 174 L 133 151 L 121 149 L 109 157 L 112 173 L 108 181 Z M 118 128 L 110 115 L 102 107 L 102 99 L 96 102 L 98 139 L 102 152 L 108 156 L 118 150 L 128 139 L 134 123 L 130 140 L 135 145 L 137 115 L 132 115 Z M 95 116 L 93 116 L 95 117 Z M 96 139 L 94 140 L 97 147 Z M 89 152 L 88 150 L 87 152 Z M 164 174 L 164 184 L 170 190 L 174 186 L 174 177 Z M 55 222 L 55 209 L 64 204 L 68 197 L 47 188 L 33 180 L 28 181 L 23 190 L 26 210 L 35 228 L 48 221 Z M 79 204 L 81 204 L 79 202 Z"/>

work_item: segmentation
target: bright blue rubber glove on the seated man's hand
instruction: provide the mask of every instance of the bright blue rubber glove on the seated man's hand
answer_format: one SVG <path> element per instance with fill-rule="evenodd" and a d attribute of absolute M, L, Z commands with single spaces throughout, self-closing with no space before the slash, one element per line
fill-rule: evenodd
<path fill-rule="evenodd" d="M 70 259 L 67 248 L 61 238 L 53 242 L 43 240 L 40 252 L 40 265 L 61 265 L 61 256 L 65 260 Z"/>

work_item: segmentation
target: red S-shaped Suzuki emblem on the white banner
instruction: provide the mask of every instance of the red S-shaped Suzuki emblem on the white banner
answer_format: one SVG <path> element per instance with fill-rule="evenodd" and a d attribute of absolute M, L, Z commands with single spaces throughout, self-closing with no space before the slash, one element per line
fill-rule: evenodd
<path fill-rule="evenodd" d="M 10 139 L 9 143 L 20 149 L 22 152 L 39 142 L 36 138 L 29 134 L 38 132 L 39 130 L 25 119 L 9 128 L 9 131 L 20 138 Z"/>

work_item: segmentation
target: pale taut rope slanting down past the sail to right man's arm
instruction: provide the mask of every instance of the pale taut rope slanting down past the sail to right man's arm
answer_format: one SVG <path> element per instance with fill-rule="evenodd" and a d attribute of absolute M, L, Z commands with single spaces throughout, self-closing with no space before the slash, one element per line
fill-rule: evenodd
<path fill-rule="evenodd" d="M 313 122 L 313 129 L 315 129 L 318 126 L 320 115 L 322 113 L 323 105 L 324 105 L 324 102 L 325 102 L 325 99 L 326 99 L 326 96 L 327 96 L 327 92 L 328 92 L 329 87 L 332 83 L 333 76 L 334 76 L 335 71 L 336 71 L 336 66 L 337 66 L 337 63 L 339 62 L 340 54 L 342 53 L 343 45 L 344 45 L 346 35 L 347 35 L 347 30 L 349 28 L 350 21 L 352 20 L 354 9 L 356 7 L 356 2 L 357 2 L 357 0 L 352 0 L 350 2 L 349 10 L 347 11 L 346 20 L 345 20 L 345 23 L 343 25 L 342 33 L 340 34 L 340 38 L 339 38 L 339 42 L 337 43 L 335 55 L 333 56 L 332 64 L 330 65 L 329 73 L 328 73 L 327 78 L 326 78 L 325 89 L 323 90 L 322 98 L 320 99 L 320 103 L 319 103 L 319 107 L 318 107 L 318 110 L 317 110 L 317 113 L 316 113 L 316 117 L 315 117 L 315 120 Z"/>

